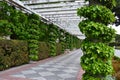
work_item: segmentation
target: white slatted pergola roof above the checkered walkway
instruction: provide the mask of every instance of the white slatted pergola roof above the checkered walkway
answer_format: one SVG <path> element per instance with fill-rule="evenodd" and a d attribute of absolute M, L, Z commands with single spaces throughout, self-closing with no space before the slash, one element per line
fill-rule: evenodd
<path fill-rule="evenodd" d="M 8 2 L 38 14 L 43 21 L 53 23 L 78 38 L 85 37 L 78 28 L 83 18 L 77 16 L 77 8 L 88 4 L 84 0 L 8 0 Z"/>

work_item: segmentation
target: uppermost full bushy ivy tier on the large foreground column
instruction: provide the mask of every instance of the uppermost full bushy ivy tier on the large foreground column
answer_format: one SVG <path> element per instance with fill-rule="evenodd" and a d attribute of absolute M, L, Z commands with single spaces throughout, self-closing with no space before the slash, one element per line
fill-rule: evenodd
<path fill-rule="evenodd" d="M 110 9 L 105 6 L 92 5 L 78 8 L 78 16 L 83 16 L 90 21 L 100 22 L 104 24 L 113 23 L 115 21 L 115 16 Z"/>

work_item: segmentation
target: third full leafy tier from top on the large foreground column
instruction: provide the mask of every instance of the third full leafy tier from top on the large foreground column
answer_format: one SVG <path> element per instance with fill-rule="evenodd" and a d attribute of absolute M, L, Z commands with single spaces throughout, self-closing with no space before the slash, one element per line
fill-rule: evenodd
<path fill-rule="evenodd" d="M 83 50 L 83 54 L 89 55 L 89 57 L 94 56 L 94 58 L 98 59 L 112 59 L 114 55 L 113 47 L 108 46 L 102 42 L 90 42 L 90 41 L 83 41 L 81 48 Z"/>

